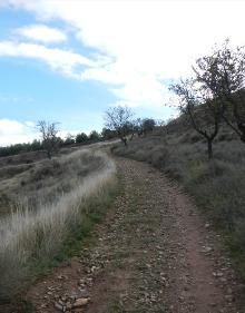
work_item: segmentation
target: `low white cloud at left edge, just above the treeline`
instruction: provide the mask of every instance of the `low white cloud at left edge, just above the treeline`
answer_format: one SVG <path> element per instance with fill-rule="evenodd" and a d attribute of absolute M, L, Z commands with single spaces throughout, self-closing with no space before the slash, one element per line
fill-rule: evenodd
<path fill-rule="evenodd" d="M 0 119 L 0 146 L 32 141 L 39 137 L 33 126 L 32 121 Z"/>

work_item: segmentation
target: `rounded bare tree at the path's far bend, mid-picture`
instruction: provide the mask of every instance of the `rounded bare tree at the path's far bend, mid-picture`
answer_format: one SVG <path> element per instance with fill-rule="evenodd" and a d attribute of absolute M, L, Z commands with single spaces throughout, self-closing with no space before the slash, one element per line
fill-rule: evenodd
<path fill-rule="evenodd" d="M 133 115 L 128 107 L 122 106 L 114 107 L 106 111 L 106 127 L 115 130 L 125 146 L 127 146 L 127 135 L 130 133 Z"/>

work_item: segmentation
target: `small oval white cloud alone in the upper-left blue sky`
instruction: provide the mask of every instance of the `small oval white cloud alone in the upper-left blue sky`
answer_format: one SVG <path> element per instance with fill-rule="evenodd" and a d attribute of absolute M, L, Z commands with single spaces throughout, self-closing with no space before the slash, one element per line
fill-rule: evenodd
<path fill-rule="evenodd" d="M 57 43 L 67 40 L 67 36 L 59 29 L 47 27 L 46 25 L 31 25 L 16 30 L 27 39 L 43 43 Z"/>

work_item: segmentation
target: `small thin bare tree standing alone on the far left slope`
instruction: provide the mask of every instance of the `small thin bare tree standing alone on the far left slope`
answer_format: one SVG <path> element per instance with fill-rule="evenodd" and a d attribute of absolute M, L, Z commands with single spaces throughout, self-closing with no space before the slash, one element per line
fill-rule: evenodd
<path fill-rule="evenodd" d="M 59 149 L 59 138 L 57 137 L 59 129 L 57 128 L 57 125 L 58 123 L 48 123 L 46 120 L 39 120 L 37 124 L 37 129 L 41 135 L 43 149 L 50 159 L 52 154 L 57 153 Z"/>

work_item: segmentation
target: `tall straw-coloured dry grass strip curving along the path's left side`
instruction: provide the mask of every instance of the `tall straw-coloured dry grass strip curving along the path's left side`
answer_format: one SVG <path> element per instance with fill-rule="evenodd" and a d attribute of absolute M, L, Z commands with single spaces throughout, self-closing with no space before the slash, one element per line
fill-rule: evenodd
<path fill-rule="evenodd" d="M 75 175 L 84 164 L 94 164 L 86 177 Z M 55 197 L 53 203 L 20 209 L 0 222 L 0 299 L 21 292 L 38 273 L 38 268 L 56 257 L 63 243 L 76 232 L 87 227 L 90 214 L 100 214 L 90 204 L 105 202 L 116 185 L 116 167 L 102 153 L 76 151 L 62 157 L 61 165 L 70 167 L 68 178 L 72 189 Z M 74 170 L 74 173 L 71 173 Z M 40 193 L 37 193 L 40 195 Z M 26 202 L 24 202 L 26 203 Z"/>

